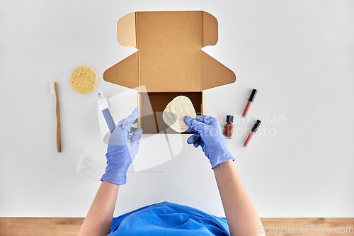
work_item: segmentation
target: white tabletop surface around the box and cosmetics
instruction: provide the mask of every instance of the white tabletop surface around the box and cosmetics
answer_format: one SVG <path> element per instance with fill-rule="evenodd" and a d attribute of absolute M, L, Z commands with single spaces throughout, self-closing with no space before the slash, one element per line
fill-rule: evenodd
<path fill-rule="evenodd" d="M 219 22 L 217 45 L 203 50 L 237 81 L 205 91 L 205 113 L 222 123 L 234 114 L 238 137 L 229 150 L 259 215 L 354 217 L 354 2 L 189 0 L 0 1 L 0 216 L 86 215 L 101 182 L 75 168 L 89 147 L 105 154 L 97 93 L 126 91 L 102 75 L 135 52 L 119 45 L 116 24 L 134 11 L 167 10 L 203 10 Z M 84 65 L 96 71 L 98 86 L 83 95 L 70 76 Z M 253 87 L 258 95 L 242 120 Z M 261 132 L 245 149 L 256 118 Z M 177 157 L 127 175 L 115 215 L 170 201 L 223 216 L 210 163 L 187 137 Z M 145 146 L 146 158 L 159 149 Z"/>

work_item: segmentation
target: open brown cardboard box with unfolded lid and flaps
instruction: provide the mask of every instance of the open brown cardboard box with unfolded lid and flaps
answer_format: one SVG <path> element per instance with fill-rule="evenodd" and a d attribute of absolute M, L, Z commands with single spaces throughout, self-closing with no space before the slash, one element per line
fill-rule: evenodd
<path fill-rule="evenodd" d="M 127 14 L 118 21 L 118 42 L 138 51 L 107 69 L 103 79 L 139 90 L 137 125 L 146 134 L 174 132 L 162 120 L 174 97 L 188 96 L 202 114 L 203 90 L 236 81 L 231 69 L 201 50 L 217 43 L 217 19 L 205 11 Z"/>

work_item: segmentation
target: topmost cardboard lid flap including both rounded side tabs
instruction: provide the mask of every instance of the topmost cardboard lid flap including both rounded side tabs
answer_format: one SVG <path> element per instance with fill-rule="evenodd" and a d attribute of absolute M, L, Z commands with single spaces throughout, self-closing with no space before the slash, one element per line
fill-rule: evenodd
<path fill-rule="evenodd" d="M 195 50 L 217 43 L 217 19 L 205 11 L 139 11 L 118 21 L 118 42 L 139 50 Z"/>

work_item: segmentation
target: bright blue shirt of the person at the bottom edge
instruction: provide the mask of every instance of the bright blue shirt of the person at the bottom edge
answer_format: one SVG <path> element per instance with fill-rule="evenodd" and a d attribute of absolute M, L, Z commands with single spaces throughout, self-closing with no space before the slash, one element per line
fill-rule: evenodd
<path fill-rule="evenodd" d="M 163 202 L 113 218 L 114 235 L 230 235 L 226 218 Z"/>

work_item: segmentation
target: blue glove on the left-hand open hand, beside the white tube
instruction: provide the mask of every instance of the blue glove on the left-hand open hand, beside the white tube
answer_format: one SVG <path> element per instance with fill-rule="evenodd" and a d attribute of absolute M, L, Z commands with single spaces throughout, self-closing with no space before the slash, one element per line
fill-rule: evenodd
<path fill-rule="evenodd" d="M 120 120 L 115 126 L 108 140 L 107 154 L 105 154 L 107 167 L 101 180 L 118 185 L 127 182 L 127 169 L 137 154 L 140 137 L 142 137 L 142 129 L 137 129 L 130 135 L 130 126 L 135 122 L 139 113 L 140 109 L 135 108 L 130 116 Z"/>

